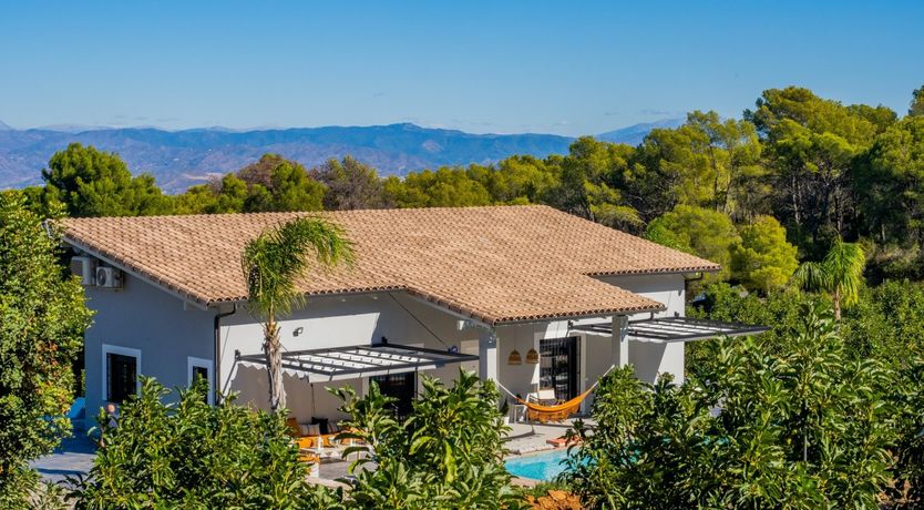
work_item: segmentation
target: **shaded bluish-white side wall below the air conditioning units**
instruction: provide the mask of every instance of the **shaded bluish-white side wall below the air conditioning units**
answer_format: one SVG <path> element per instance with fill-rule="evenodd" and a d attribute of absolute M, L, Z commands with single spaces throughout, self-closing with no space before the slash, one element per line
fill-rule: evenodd
<path fill-rule="evenodd" d="M 86 288 L 86 306 L 96 310 L 85 336 L 88 417 L 104 405 L 103 344 L 140 350 L 138 374 L 167 388 L 187 385 L 189 356 L 214 357 L 214 310 L 184 308 L 178 297 L 127 274 L 124 283 L 119 290 Z"/>

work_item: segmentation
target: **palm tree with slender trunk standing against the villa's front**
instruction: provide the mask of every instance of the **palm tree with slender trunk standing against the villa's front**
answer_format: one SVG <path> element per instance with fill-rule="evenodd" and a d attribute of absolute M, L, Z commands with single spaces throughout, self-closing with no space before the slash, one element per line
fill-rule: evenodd
<path fill-rule="evenodd" d="M 286 407 L 277 317 L 304 305 L 305 295 L 298 292 L 296 282 L 312 262 L 330 268 L 351 264 L 352 259 L 352 244 L 343 231 L 319 217 L 297 217 L 276 225 L 244 247 L 240 264 L 247 280 L 247 308 L 263 324 L 273 410 Z"/>

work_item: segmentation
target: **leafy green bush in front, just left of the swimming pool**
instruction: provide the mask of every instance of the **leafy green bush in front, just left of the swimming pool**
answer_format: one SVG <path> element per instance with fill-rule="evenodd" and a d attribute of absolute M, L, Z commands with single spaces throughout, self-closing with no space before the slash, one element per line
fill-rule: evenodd
<path fill-rule="evenodd" d="M 345 508 L 519 508 L 503 462 L 506 426 L 494 385 L 464 370 L 452 387 L 425 376 L 422 385 L 404 422 L 374 384 L 362 398 L 350 387 L 335 390 L 352 416 L 343 425 L 367 443 L 356 449 L 377 465 L 374 471 L 353 465 L 357 480 Z"/>

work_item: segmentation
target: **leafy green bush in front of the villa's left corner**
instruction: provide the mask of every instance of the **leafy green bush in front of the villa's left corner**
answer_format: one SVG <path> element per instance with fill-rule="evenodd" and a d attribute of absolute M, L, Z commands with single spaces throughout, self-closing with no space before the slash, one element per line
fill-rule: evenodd
<path fill-rule="evenodd" d="M 100 416 L 101 446 L 78 480 L 78 508 L 304 508 L 307 466 L 284 414 L 254 411 L 226 398 L 205 402 L 199 379 L 163 404 L 170 391 L 143 379 L 116 426 Z"/>

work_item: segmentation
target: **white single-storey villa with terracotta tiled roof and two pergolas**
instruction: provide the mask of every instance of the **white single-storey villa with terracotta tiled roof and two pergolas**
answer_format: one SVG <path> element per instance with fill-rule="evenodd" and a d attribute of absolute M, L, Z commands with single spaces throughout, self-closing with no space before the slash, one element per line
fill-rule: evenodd
<path fill-rule="evenodd" d="M 238 402 L 268 407 L 240 254 L 304 214 L 61 221 L 96 310 L 88 412 L 136 392 L 138 375 L 183 387 L 199 374 Z M 299 421 L 341 418 L 326 386 L 362 394 L 377 380 L 401 407 L 420 373 L 451 379 L 460 365 L 522 396 L 545 389 L 563 400 L 613 365 L 682 380 L 685 341 L 761 329 L 684 318 L 687 278 L 718 265 L 550 207 L 317 214 L 343 227 L 357 261 L 310 272 L 299 286 L 307 306 L 281 320 Z"/>

